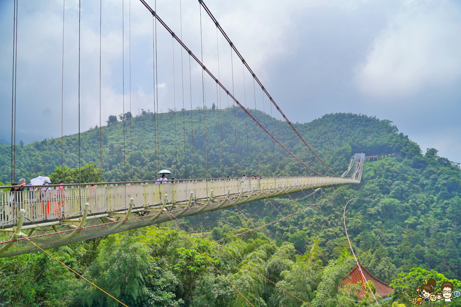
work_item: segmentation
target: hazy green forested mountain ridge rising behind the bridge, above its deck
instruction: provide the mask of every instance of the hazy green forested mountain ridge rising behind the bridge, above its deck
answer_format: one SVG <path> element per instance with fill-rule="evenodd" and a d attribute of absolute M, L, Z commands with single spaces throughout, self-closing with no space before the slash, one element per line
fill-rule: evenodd
<path fill-rule="evenodd" d="M 287 123 L 259 111 L 251 112 L 302 161 L 313 163 L 313 168 L 321 173 L 329 173 Z M 161 114 L 144 112 L 133 118 L 127 113 L 124 118 L 124 123 L 114 121 L 117 120 L 115 116 L 109 118 L 108 121 L 113 122 L 101 127 L 101 142 L 98 127 L 80 134 L 81 164 L 95 162 L 99 165 L 101 146 L 105 181 L 153 180 L 157 171 L 164 168 L 171 169 L 177 179 L 237 177 L 244 173 L 261 176 L 312 174 L 277 143 L 273 144 L 272 139 L 238 108 Z M 394 152 L 402 157 L 420 155 L 417 144 L 397 134 L 397 128 L 387 120 L 330 114 L 294 125 L 336 172 L 347 168 L 349 157 L 355 152 L 367 155 Z M 61 153 L 63 165 L 77 167 L 78 144 L 78 135 L 71 135 L 62 140 L 62 152 L 60 138 L 16 145 L 16 181 L 47 176 L 61 166 Z M 10 157 L 11 145 L 0 145 L 0 181 L 5 183 L 10 181 Z"/>

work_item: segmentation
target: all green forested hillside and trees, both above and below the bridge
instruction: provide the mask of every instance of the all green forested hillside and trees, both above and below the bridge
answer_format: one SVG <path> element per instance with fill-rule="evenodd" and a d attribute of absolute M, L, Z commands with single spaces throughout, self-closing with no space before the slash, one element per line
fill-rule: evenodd
<path fill-rule="evenodd" d="M 245 117 L 239 118 L 238 125 L 236 119 L 236 132 L 233 112 L 234 109 L 206 110 L 210 177 L 241 176 L 248 172 Z M 186 130 L 187 177 L 192 177 L 194 170 L 196 177 L 204 177 L 204 130 L 199 119 L 201 114 L 203 120 L 203 110 L 186 113 L 185 121 L 189 120 L 189 124 L 191 114 L 195 169 L 190 162 L 192 138 L 187 139 L 190 130 Z M 223 147 L 217 133 L 221 131 L 221 115 Z M 153 179 L 158 167 L 170 168 L 175 177 L 184 178 L 184 138 L 177 129 L 175 150 L 174 116 L 173 112 L 159 115 L 162 128 L 157 153 L 153 115 L 132 119 L 132 136 L 136 140 L 132 157 L 138 164 L 133 177 L 128 168 L 127 179 Z M 257 116 L 264 121 L 262 114 L 258 112 Z M 227 118 L 231 119 L 231 130 L 226 126 Z M 176 113 L 176 121 L 182 129 L 182 112 Z M 282 122 L 269 116 L 265 121 L 266 126 L 280 125 L 279 130 L 274 129 L 276 137 L 302 160 L 311 161 L 306 148 L 292 134 L 289 139 L 287 127 L 284 139 Z M 437 281 L 436 291 L 446 280 L 453 282 L 455 290 L 461 290 L 458 165 L 437 156 L 433 148 L 423 153 L 386 120 L 330 114 L 296 127 L 337 172 L 347 167 L 354 152 L 365 152 L 367 156 L 395 153 L 397 157 L 365 162 L 359 186 L 324 189 L 316 198 L 299 193 L 253 202 L 54 249 L 52 254 L 130 306 L 249 306 L 229 282 L 254 306 L 371 306 L 372 296 L 359 302 L 354 289 L 339 287 L 340 280 L 355 265 L 343 224 L 344 206 L 355 199 L 347 205 L 347 231 L 361 263 L 394 288 L 394 299 L 383 305 L 410 306 L 409 297 L 415 294 L 408 296 L 409 292 L 429 278 Z M 240 156 L 235 147 L 238 133 Z M 123 180 L 122 123 L 103 127 L 102 134 L 103 160 L 110 161 L 103 165 L 104 179 Z M 129 127 L 125 121 L 125 140 L 127 134 Z M 248 173 L 305 172 L 299 162 L 285 159 L 285 153 L 279 149 L 273 153 L 271 141 L 250 127 L 249 122 L 248 140 Z M 76 136 L 66 137 L 64 142 L 65 163 L 70 167 L 78 163 L 75 142 Z M 99 129 L 83 133 L 81 144 L 82 160 L 98 163 Z M 2 146 L 2 176 L 8 176 L 5 173 L 9 173 L 9 147 Z M 125 145 L 125 151 L 129 146 Z M 60 165 L 60 140 L 32 143 L 16 150 L 17 176 L 30 178 L 40 172 L 50 173 Z M 129 151 L 125 156 L 129 156 Z M 156 164 L 158 156 L 160 165 Z M 237 159 L 239 165 L 235 165 Z M 318 163 L 313 166 L 326 173 Z M 303 211 L 285 218 L 299 210 Z M 269 225 L 248 231 L 266 224 Z M 195 231 L 202 232 L 203 237 Z M 6 306 L 117 305 L 43 253 L 0 259 L 0 279 L 0 301 L 5 301 Z M 453 299 L 450 306 L 461 306 L 461 301 Z"/>

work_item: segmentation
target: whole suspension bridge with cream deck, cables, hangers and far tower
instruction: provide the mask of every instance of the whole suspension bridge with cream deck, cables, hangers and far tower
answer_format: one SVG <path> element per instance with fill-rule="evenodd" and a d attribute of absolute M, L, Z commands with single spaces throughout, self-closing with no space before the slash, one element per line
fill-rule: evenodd
<path fill-rule="evenodd" d="M 241 61 L 246 74 L 249 74 L 253 78 L 253 87 L 255 84 L 260 87 L 263 99 L 267 97 L 270 101 L 270 106 L 275 106 L 278 114 L 281 115 L 287 126 L 290 128 L 291 134 L 300 141 L 303 146 L 303 158 L 296 155 L 296 152 L 288 149 L 286 144 L 282 143 L 282 140 L 278 138 L 279 134 L 276 135 L 273 125 L 265 122 L 260 122 L 257 119 L 256 113 L 256 90 L 255 91 L 255 112 L 250 112 L 246 105 L 246 94 L 244 94 L 244 103 L 236 98 L 234 91 L 234 83 L 232 83 L 232 91 L 228 90 L 228 87 L 224 85 L 224 82 L 219 79 L 220 73 L 212 72 L 211 68 L 205 66 L 203 61 L 203 52 L 200 57 L 188 48 L 182 40 L 182 28 L 180 35 L 175 34 L 172 28 L 165 23 L 165 21 L 159 16 L 159 14 L 144 0 L 140 0 L 141 4 L 145 7 L 146 14 L 151 14 L 153 17 L 153 75 L 154 80 L 157 84 L 157 26 L 163 28 L 169 33 L 173 39 L 173 52 L 175 44 L 181 48 L 181 54 L 184 51 L 185 55 L 188 56 L 189 63 L 194 61 L 201 70 L 202 74 L 202 86 L 201 92 L 203 96 L 203 124 L 204 124 L 204 155 L 206 163 L 206 178 L 205 179 L 194 179 L 194 178 L 182 178 L 171 181 L 130 181 L 127 180 L 127 171 L 125 162 L 127 159 L 123 156 L 123 175 L 124 180 L 122 182 L 99 182 L 99 183 L 82 183 L 81 174 L 79 174 L 78 184 L 66 184 L 64 189 L 57 189 L 58 185 L 49 185 L 49 189 L 43 190 L 43 186 L 29 186 L 30 190 L 26 191 L 1 191 L 0 192 L 0 257 L 8 257 L 14 255 L 20 255 L 30 252 L 35 252 L 40 249 L 51 249 L 63 245 L 68 245 L 83 240 L 93 239 L 109 234 L 118 233 L 121 231 L 127 231 L 149 225 L 164 223 L 175 220 L 181 217 L 187 217 L 197 214 L 202 214 L 210 211 L 221 210 L 229 207 L 236 207 L 241 204 L 253 202 L 256 200 L 276 198 L 286 194 L 297 193 L 305 190 L 315 190 L 324 187 L 335 187 L 341 185 L 353 185 L 361 182 L 363 163 L 365 161 L 364 153 L 356 153 L 350 160 L 348 169 L 340 176 L 337 172 L 333 171 L 308 145 L 308 143 L 301 136 L 296 127 L 288 120 L 286 115 L 282 112 L 280 106 L 276 103 L 273 97 L 270 96 L 266 87 L 262 84 L 260 79 L 257 77 L 255 72 L 250 68 L 247 61 L 243 58 L 241 53 L 237 50 L 234 43 L 224 32 L 218 20 L 204 4 L 202 0 L 199 0 L 200 5 L 200 27 L 202 27 L 202 10 L 206 12 L 208 17 L 212 20 L 216 26 L 217 34 L 221 33 L 222 37 L 228 43 L 231 48 L 231 57 L 234 55 Z M 124 3 L 124 2 L 123 2 Z M 122 10 L 123 10 L 122 3 Z M 101 6 L 102 7 L 102 6 Z M 63 11 L 65 11 L 63 9 Z M 80 14 L 79 9 L 79 46 L 80 46 Z M 124 20 L 124 18 L 122 18 Z M 63 13 L 64 20 L 64 13 Z M 123 22 L 123 21 L 122 21 Z M 17 50 L 17 3 L 15 2 L 15 27 L 13 27 L 15 33 L 13 33 L 13 94 L 12 94 L 12 142 L 11 142 L 11 182 L 17 178 L 16 174 L 16 71 L 15 63 L 17 57 L 15 56 L 15 50 Z M 182 27 L 182 25 L 181 25 Z M 15 36 L 16 35 L 16 36 Z M 124 40 L 123 40 L 124 41 Z M 101 41 L 100 41 L 101 44 Z M 124 46 L 122 47 L 124 48 Z M 80 48 L 79 48 L 80 52 Z M 130 46 L 131 52 L 131 46 Z M 63 21 L 63 75 L 64 75 L 64 21 Z M 131 59 L 131 55 L 130 55 Z M 80 74 L 80 53 L 79 53 L 79 74 Z M 181 56 L 182 64 L 182 56 Z M 191 64 L 189 64 L 191 65 Z M 123 65 L 124 67 L 124 65 Z M 218 54 L 218 69 L 219 69 L 219 54 Z M 233 67 L 232 67 L 233 70 Z M 130 76 L 131 76 L 131 65 L 130 65 Z M 218 77 L 216 77 L 218 76 Z M 234 82 L 234 72 L 233 72 Z M 245 78 L 245 73 L 243 79 Z M 260 133 L 264 135 L 264 140 L 267 144 L 267 140 L 272 144 L 273 150 L 273 162 L 274 172 L 267 174 L 268 176 L 256 177 L 256 178 L 241 178 L 238 176 L 227 177 L 227 178 L 208 178 L 208 147 L 209 135 L 206 135 L 206 106 L 205 106 L 205 87 L 206 82 L 212 82 L 216 84 L 216 91 L 225 93 L 226 97 L 233 101 L 234 105 L 238 109 L 242 110 L 245 115 L 245 126 L 246 126 L 246 147 L 247 147 L 247 162 L 249 169 L 249 146 L 248 146 L 248 120 L 253 122 L 253 127 L 258 128 Z M 64 81 L 63 81 L 64 82 Z M 130 77 L 131 82 L 131 77 Z M 245 82 L 245 81 L 243 81 Z M 182 80 L 184 83 L 184 80 Z M 190 81 L 192 88 L 192 81 Z M 184 87 L 184 86 L 183 86 Z M 230 87 L 229 87 L 230 88 Z M 130 83 L 131 89 L 131 83 Z M 64 90 L 63 90 L 64 91 Z M 124 87 L 123 87 L 124 91 Z M 155 93 L 155 91 L 157 91 Z M 184 91 L 184 89 L 183 89 Z M 191 90 L 192 92 L 192 90 Z M 244 89 L 245 92 L 245 83 Z M 158 111 L 158 86 L 154 89 L 154 108 Z M 78 130 L 78 169 L 81 168 L 81 144 L 80 144 L 80 82 L 78 88 L 78 116 L 79 116 L 79 130 Z M 124 97 L 124 92 L 123 92 Z M 131 96 L 130 96 L 131 97 Z M 176 96 L 175 96 L 176 97 Z M 182 92 L 184 100 L 184 92 Z M 99 98 L 101 99 L 101 98 Z M 220 99 L 218 94 L 216 101 L 219 105 Z M 176 102 L 175 102 L 176 103 Z M 184 105 L 184 103 L 183 103 Z M 64 105 L 62 106 L 64 107 Z M 192 94 L 191 94 L 191 109 L 192 109 Z M 100 112 L 100 111 L 99 111 Z M 123 112 L 124 101 L 123 101 Z M 131 114 L 131 100 L 130 100 L 130 114 Z M 155 118 L 154 113 L 154 118 Z M 176 116 L 176 113 L 175 113 Z M 237 114 L 237 120 L 239 116 Z M 129 119 L 131 127 L 131 118 Z M 62 121 L 62 119 L 61 119 Z M 125 119 L 123 121 L 123 155 L 125 155 Z M 218 126 L 218 139 L 220 139 L 221 151 L 224 151 L 223 139 L 223 124 Z M 64 121 L 62 121 L 64 125 Z M 162 129 L 159 129 L 158 116 L 156 131 L 154 132 L 155 150 L 156 150 L 156 164 L 155 168 L 160 169 L 160 165 L 163 163 L 160 161 L 160 150 L 159 150 L 159 135 L 162 133 Z M 186 123 L 182 123 L 182 127 L 179 130 L 186 128 Z M 240 124 L 238 124 L 240 125 Z M 101 142 L 101 123 L 99 124 L 99 142 Z M 220 127 L 220 128 L 219 128 Z M 241 160 L 240 154 L 240 133 L 238 133 L 234 118 L 234 130 L 231 130 L 232 125 L 229 120 L 229 135 L 235 134 L 235 148 L 231 148 L 229 145 L 229 155 L 232 150 L 235 152 L 235 161 L 239 165 L 238 161 Z M 252 125 L 250 125 L 252 129 Z M 176 138 L 176 117 L 175 117 L 175 148 L 177 147 Z M 131 133 L 131 130 L 130 130 Z M 237 141 L 237 134 L 238 141 Z M 285 131 L 284 131 L 285 134 Z M 193 136 L 194 134 L 192 134 Z M 258 136 L 258 134 L 256 134 Z M 229 139 L 229 144 L 232 143 L 232 139 Z M 286 138 L 285 138 L 286 141 Z M 62 142 L 62 137 L 61 137 Z M 237 145 L 238 142 L 238 145 Z M 131 143 L 131 140 L 130 140 Z M 184 152 L 186 147 L 185 133 L 184 133 Z M 192 140 L 192 144 L 193 144 Z M 274 176 L 278 171 L 275 167 L 275 146 L 285 153 L 292 161 L 296 161 L 302 171 L 297 173 L 306 173 L 303 176 Z M 102 172 L 102 150 L 100 145 L 100 167 Z M 244 146 L 242 146 L 244 147 Z M 270 146 L 267 146 L 270 148 Z M 238 148 L 238 149 L 237 149 Z M 267 150 L 266 148 L 266 150 Z M 175 149 L 176 150 L 176 149 Z M 255 151 L 258 151 L 255 148 Z M 269 149 L 270 150 L 270 149 Z M 194 148 L 192 148 L 194 154 Z M 308 153 L 308 156 L 306 154 Z M 61 151 L 61 155 L 64 155 Z M 177 156 L 177 152 L 175 152 Z M 177 160 L 177 159 L 176 159 Z M 185 160 L 185 158 L 184 158 Z M 312 162 L 312 160 L 314 162 Z M 63 165 L 64 159 L 61 156 L 61 165 Z M 224 164 L 224 153 L 221 154 L 219 159 L 220 163 Z M 232 160 L 231 160 L 232 161 Z M 224 168 L 224 167 L 223 167 Z M 61 186 L 62 187 L 62 186 Z M 0 187 L 0 189 L 9 189 L 11 186 Z M 37 188 L 38 190 L 33 190 Z M 14 187 L 13 187 L 14 189 Z M 14 195 L 14 196 L 12 196 Z M 30 244 L 33 242 L 33 245 Z M 39 247 L 39 248 L 38 248 Z"/>

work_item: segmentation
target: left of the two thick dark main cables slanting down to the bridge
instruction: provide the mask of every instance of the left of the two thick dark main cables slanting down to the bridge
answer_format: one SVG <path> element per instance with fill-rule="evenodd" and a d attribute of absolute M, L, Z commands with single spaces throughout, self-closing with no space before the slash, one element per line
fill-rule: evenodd
<path fill-rule="evenodd" d="M 151 14 L 158 20 L 161 25 L 170 33 L 173 34 L 174 32 L 164 23 L 164 21 L 158 16 L 158 14 L 145 2 L 145 0 L 140 0 L 141 3 L 151 12 Z M 181 39 L 178 38 L 177 35 L 175 35 L 175 39 L 180 43 L 180 45 L 194 58 L 194 60 L 202 67 L 202 69 L 210 76 L 212 79 L 219 84 L 219 86 L 226 92 L 228 96 L 230 96 L 237 105 L 243 109 L 243 111 L 251 118 L 253 119 L 264 131 L 266 134 L 268 134 L 271 138 L 273 138 L 274 141 L 276 141 L 283 149 L 285 149 L 292 157 L 294 157 L 296 160 L 298 160 L 301 164 L 312 170 L 313 172 L 319 174 L 319 176 L 323 176 L 321 173 L 317 172 L 316 170 L 313 170 L 311 167 L 309 167 L 307 164 L 302 162 L 298 157 L 296 157 L 291 151 L 289 151 L 280 141 L 278 141 L 272 134 L 269 133 L 269 131 L 263 127 L 263 125 L 255 119 L 253 115 L 251 115 L 248 110 L 232 95 L 229 93 L 229 91 L 226 90 L 224 85 L 203 65 L 203 63 L 195 56 L 195 54 L 192 53 L 190 49 L 187 48 L 187 46 L 184 45 L 184 43 L 181 41 Z M 232 57 L 231 57 L 232 58 Z M 157 92 L 158 93 L 158 92 Z M 157 104 L 158 105 L 158 104 Z"/>

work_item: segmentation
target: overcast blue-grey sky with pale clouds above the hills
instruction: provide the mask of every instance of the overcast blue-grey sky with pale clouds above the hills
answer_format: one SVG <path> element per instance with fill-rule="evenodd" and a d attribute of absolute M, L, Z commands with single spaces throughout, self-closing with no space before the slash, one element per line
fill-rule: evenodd
<path fill-rule="evenodd" d="M 154 0 L 147 2 L 154 7 Z M 435 147 L 440 156 L 461 162 L 461 2 L 205 3 L 291 121 L 307 122 L 337 112 L 389 119 L 424 152 Z M 203 52 L 206 67 L 229 91 L 234 88 L 237 99 L 254 108 L 256 96 L 258 109 L 263 108 L 261 89 L 256 86 L 254 92 L 252 76 L 244 73 L 235 54 L 232 69 L 230 47 L 203 10 L 200 27 L 197 0 L 157 0 L 157 13 L 199 58 Z M 123 11 L 122 0 L 102 0 L 99 86 L 99 14 L 98 1 L 82 0 L 82 131 L 99 125 L 99 89 L 103 124 L 110 114 L 129 111 L 130 103 L 134 114 L 140 108 L 154 108 L 152 15 L 136 0 L 124 0 Z M 62 0 L 19 0 L 16 142 L 61 135 L 62 23 Z M 193 62 L 189 65 L 189 56 L 181 55 L 178 43 L 160 24 L 156 33 L 159 112 L 174 105 L 180 109 L 183 103 L 191 108 L 191 88 L 192 107 L 202 105 L 201 69 Z M 13 0 L 2 0 L 0 139 L 7 140 L 11 138 L 12 51 Z M 227 106 L 224 93 L 219 102 L 216 83 L 210 78 L 205 78 L 205 93 L 208 106 L 213 102 Z M 270 112 L 267 102 L 266 98 L 264 109 Z M 76 133 L 77 0 L 66 0 L 64 10 L 63 113 L 64 134 Z"/>

